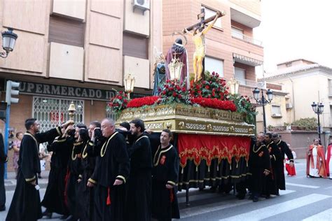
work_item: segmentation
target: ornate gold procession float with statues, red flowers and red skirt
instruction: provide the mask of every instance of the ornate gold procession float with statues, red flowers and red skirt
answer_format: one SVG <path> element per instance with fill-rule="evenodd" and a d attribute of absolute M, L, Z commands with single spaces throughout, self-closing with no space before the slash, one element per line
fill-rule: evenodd
<path fill-rule="evenodd" d="M 217 13 L 207 20 L 215 22 L 222 15 Z M 198 31 L 205 33 L 210 27 Z M 186 32 L 193 29 L 189 27 Z M 204 43 L 204 34 L 199 38 L 198 43 Z M 117 125 L 140 118 L 157 139 L 162 129 L 174 132 L 180 159 L 177 186 L 187 190 L 188 196 L 191 187 L 237 183 L 247 177 L 256 110 L 248 97 L 237 94 L 236 80 L 226 83 L 218 73 L 207 71 L 204 77 L 200 73 L 202 64 L 194 67 L 193 76 L 189 75 L 186 50 L 178 40 L 166 59 L 155 53 L 153 96 L 130 100 L 134 78 L 127 75 L 126 92 L 116 92 L 109 108 L 118 115 Z M 198 45 L 199 50 L 202 46 Z M 200 54 L 195 52 L 194 56 Z"/>

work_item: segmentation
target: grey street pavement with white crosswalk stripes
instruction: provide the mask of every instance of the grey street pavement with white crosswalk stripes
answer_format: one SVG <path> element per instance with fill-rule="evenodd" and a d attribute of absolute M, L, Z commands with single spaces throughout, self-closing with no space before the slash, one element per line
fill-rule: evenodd
<path fill-rule="evenodd" d="M 305 160 L 296 160 L 297 176 L 286 176 L 286 190 L 280 196 L 270 199 L 260 198 L 253 203 L 251 200 L 236 199 L 233 191 L 229 194 L 190 190 L 190 206 L 186 206 L 185 192 L 179 192 L 181 220 L 331 220 L 332 221 L 332 180 L 323 178 L 307 178 L 305 176 Z M 47 172 L 41 179 L 41 197 L 45 194 Z M 12 184 L 11 184 L 12 183 Z M 15 179 L 8 174 L 6 180 L 7 211 Z M 7 211 L 0 212 L 0 220 L 5 220 Z M 60 215 L 54 214 L 58 220 Z M 49 220 L 49 219 L 43 219 Z"/>

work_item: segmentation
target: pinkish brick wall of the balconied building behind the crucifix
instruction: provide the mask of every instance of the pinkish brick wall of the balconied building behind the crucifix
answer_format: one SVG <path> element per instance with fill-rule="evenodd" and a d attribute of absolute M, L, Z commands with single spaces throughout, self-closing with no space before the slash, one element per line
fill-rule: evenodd
<path fill-rule="evenodd" d="M 233 52 L 244 56 L 252 57 L 254 59 L 263 60 L 263 48 L 257 45 L 232 38 L 231 36 L 231 21 L 230 21 L 230 7 L 226 1 L 213 0 L 164 0 L 162 1 L 163 15 L 162 15 L 162 34 L 163 34 L 163 53 L 167 53 L 174 40 L 179 36 L 171 36 L 174 31 L 181 31 L 185 27 L 198 22 L 197 15 L 200 13 L 201 6 L 208 6 L 212 10 L 223 10 L 226 15 L 221 19 L 222 29 L 212 28 L 205 36 L 206 55 L 216 59 L 223 60 L 223 76 L 227 79 L 233 78 Z M 238 23 L 237 23 L 238 24 Z M 241 26 L 245 30 L 245 34 L 252 36 L 252 29 Z M 193 53 L 195 52 L 195 45 L 191 36 L 186 35 L 188 43 L 186 50 L 188 52 L 188 66 L 189 73 L 193 73 Z M 254 67 L 248 68 L 248 79 L 256 80 Z M 242 89 L 243 91 L 243 89 Z M 244 90 L 247 92 L 247 90 Z M 251 93 L 251 92 L 250 92 Z"/>

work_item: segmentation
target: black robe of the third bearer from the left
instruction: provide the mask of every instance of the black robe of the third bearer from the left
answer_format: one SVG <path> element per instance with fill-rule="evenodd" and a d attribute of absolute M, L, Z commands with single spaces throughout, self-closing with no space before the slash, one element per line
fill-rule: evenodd
<path fill-rule="evenodd" d="M 82 173 L 81 167 L 81 148 L 83 141 L 74 142 L 71 146 L 71 154 L 68 162 L 68 172 L 66 178 L 66 187 L 64 190 L 65 202 L 69 213 L 78 219 L 81 211 L 77 206 L 78 199 L 78 176 Z"/>

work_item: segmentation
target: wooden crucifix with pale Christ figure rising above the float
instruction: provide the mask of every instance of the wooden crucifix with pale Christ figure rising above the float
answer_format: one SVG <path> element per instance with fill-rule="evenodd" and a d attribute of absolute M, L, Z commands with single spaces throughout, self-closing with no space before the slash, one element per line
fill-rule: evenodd
<path fill-rule="evenodd" d="M 193 36 L 193 42 L 195 44 L 195 52 L 193 55 L 193 71 L 195 73 L 195 82 L 202 80 L 204 76 L 202 73 L 204 73 L 204 58 L 206 50 L 205 34 L 207 34 L 209 29 L 212 29 L 212 26 L 214 23 L 216 23 L 216 20 L 218 20 L 218 18 L 222 17 L 223 15 L 225 15 L 225 13 L 217 11 L 216 15 L 205 19 L 205 8 L 202 7 L 200 9 L 200 14 L 198 14 L 198 20 L 200 20 L 200 22 L 184 29 L 184 33 Z M 205 24 L 209 22 L 211 23 L 205 27 Z"/>

